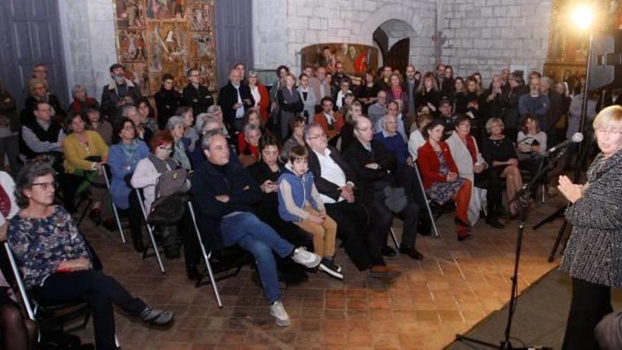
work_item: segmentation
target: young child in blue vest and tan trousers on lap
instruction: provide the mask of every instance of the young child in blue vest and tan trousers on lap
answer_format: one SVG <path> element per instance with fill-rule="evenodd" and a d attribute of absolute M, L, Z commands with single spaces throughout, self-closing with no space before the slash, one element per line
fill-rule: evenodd
<path fill-rule="evenodd" d="M 341 267 L 334 263 L 337 224 L 326 214 L 324 202 L 309 171 L 307 148 L 291 148 L 289 162 L 278 177 L 278 214 L 313 235 L 315 254 L 322 257 L 318 269 L 336 279 L 344 279 Z"/>

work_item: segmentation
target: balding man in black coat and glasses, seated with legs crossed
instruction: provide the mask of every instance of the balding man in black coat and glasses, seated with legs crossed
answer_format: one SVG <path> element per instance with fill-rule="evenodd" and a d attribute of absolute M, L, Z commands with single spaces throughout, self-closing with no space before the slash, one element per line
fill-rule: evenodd
<path fill-rule="evenodd" d="M 397 170 L 395 157 L 387 151 L 380 142 L 373 140 L 373 129 L 370 119 L 357 117 L 354 120 L 353 141 L 344 153 L 344 158 L 354 170 L 360 182 L 360 196 L 363 204 L 370 209 L 372 217 L 380 226 L 383 255 L 395 255 L 395 251 L 387 246 L 389 229 L 393 223 L 393 214 L 403 220 L 404 231 L 401 235 L 399 251 L 413 259 L 423 259 L 423 255 L 415 248 L 417 225 L 420 207 L 416 202 L 406 200 L 404 205 L 387 206 L 388 192 L 394 182 L 394 173 Z M 407 199 L 407 198 L 406 198 Z"/>

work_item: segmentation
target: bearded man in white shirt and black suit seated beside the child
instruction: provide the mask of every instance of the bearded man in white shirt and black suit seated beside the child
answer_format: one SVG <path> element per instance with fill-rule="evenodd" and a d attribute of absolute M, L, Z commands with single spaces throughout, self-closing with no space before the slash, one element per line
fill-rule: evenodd
<path fill-rule="evenodd" d="M 324 129 L 319 124 L 311 123 L 305 128 L 305 141 L 310 148 L 309 169 L 315 187 L 327 214 L 339 222 L 337 235 L 344 240 L 352 262 L 360 271 L 370 269 L 372 277 L 396 277 L 397 272 L 389 269 L 382 257 L 384 235 L 370 222 L 365 206 L 356 202 L 356 180 L 351 168 L 336 148 L 328 146 Z M 367 239 L 363 233 L 368 233 Z"/>

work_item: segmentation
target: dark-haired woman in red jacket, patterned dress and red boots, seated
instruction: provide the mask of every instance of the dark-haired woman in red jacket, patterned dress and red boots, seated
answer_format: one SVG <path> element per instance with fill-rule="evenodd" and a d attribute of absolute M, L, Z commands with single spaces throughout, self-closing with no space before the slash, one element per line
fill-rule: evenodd
<path fill-rule="evenodd" d="M 418 166 L 423 177 L 423 187 L 428 198 L 438 204 L 445 204 L 450 199 L 456 203 L 456 231 L 458 240 L 471 238 L 471 226 L 467 219 L 467 210 L 471 201 L 471 182 L 458 177 L 458 168 L 452 158 L 449 146 L 441 141 L 443 125 L 434 120 L 423 129 L 423 144 L 417 151 Z"/>

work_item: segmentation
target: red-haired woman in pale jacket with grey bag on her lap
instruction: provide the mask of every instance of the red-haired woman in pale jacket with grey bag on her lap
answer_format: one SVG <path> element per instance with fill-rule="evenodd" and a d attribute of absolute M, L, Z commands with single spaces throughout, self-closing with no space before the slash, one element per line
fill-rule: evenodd
<path fill-rule="evenodd" d="M 143 190 L 143 201 L 147 213 L 151 211 L 151 204 L 155 200 L 155 185 L 158 183 L 158 177 L 167 170 L 175 170 L 181 166 L 178 161 L 170 157 L 174 144 L 175 139 L 170 132 L 155 134 L 151 139 L 151 154 L 136 164 L 134 174 L 131 175 L 131 187 Z M 160 232 L 160 238 L 166 257 L 169 259 L 180 257 L 175 227 L 165 226 Z"/>

